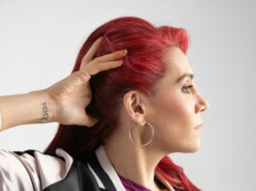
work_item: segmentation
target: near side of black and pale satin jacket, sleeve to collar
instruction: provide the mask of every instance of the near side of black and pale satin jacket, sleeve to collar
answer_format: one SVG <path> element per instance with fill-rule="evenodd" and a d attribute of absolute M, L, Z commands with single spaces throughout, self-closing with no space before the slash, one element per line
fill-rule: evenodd
<path fill-rule="evenodd" d="M 0 190 L 5 191 L 125 190 L 102 147 L 84 160 L 62 149 L 0 149 L 0 179 Z"/>

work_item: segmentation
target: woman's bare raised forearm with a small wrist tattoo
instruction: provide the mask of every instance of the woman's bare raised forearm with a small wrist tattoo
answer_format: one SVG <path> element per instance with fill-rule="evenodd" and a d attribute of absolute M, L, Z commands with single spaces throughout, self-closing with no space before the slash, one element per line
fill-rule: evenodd
<path fill-rule="evenodd" d="M 0 96 L 0 131 L 19 124 L 53 122 L 54 111 L 44 91 Z"/>

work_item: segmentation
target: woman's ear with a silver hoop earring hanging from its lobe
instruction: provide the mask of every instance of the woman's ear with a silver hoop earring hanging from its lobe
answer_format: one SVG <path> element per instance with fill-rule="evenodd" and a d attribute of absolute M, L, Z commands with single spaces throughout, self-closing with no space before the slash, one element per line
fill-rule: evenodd
<path fill-rule="evenodd" d="M 145 124 L 146 107 L 137 91 L 129 91 L 123 97 L 123 106 L 129 118 L 140 125 Z"/>

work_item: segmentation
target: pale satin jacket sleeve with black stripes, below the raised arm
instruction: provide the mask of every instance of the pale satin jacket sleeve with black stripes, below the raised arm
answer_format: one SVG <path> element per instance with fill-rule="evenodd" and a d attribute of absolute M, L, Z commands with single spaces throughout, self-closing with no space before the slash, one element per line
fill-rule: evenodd
<path fill-rule="evenodd" d="M 67 177 L 72 163 L 71 155 L 61 149 L 51 153 L 0 150 L 0 190 L 43 190 Z"/>

